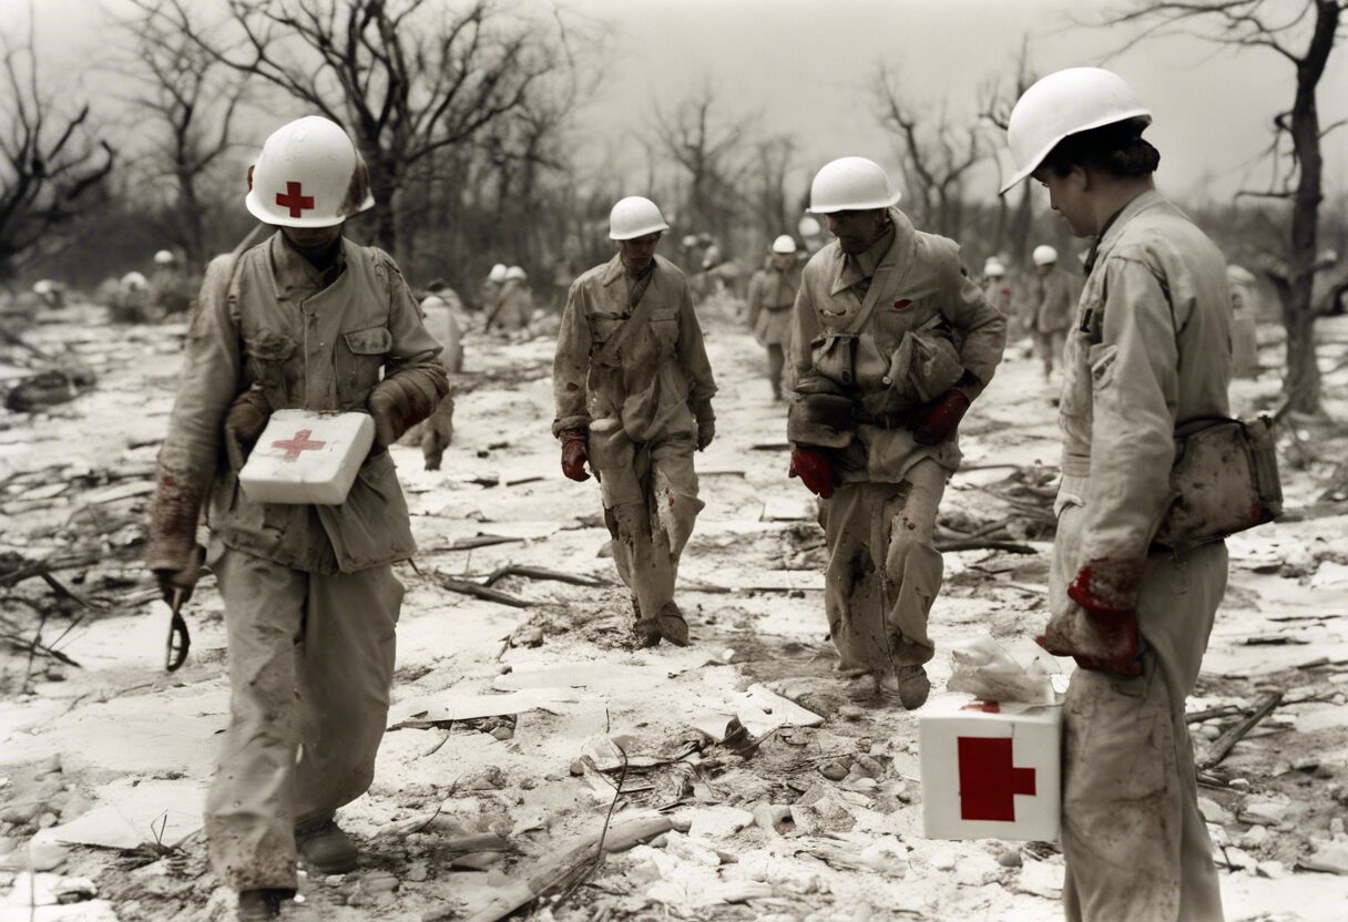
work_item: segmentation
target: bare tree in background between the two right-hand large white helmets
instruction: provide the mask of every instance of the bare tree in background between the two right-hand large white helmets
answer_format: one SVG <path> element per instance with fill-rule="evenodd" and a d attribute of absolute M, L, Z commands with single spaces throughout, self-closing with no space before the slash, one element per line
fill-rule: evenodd
<path fill-rule="evenodd" d="M 936 233 L 958 237 L 964 224 L 964 183 L 984 156 L 976 125 L 952 123 L 945 102 L 923 125 L 918 109 L 903 98 L 898 75 L 883 62 L 871 82 L 876 117 L 894 132 L 905 191 L 913 195 L 915 217 Z"/>

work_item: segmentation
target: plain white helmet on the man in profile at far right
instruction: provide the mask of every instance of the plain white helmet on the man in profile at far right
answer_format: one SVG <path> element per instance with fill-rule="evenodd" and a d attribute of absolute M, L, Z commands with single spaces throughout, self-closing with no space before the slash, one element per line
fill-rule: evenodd
<path fill-rule="evenodd" d="M 1068 135 L 1128 119 L 1151 121 L 1138 96 L 1119 74 L 1101 67 L 1068 67 L 1027 89 L 1011 111 L 1007 144 L 1015 173 L 1002 183 L 1006 193 L 1039 168 L 1043 158 Z"/>

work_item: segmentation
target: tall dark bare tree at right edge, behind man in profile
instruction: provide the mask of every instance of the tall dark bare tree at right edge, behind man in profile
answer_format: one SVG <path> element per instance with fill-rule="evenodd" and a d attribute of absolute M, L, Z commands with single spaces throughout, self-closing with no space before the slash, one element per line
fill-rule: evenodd
<path fill-rule="evenodd" d="M 1340 38 L 1345 7 L 1344 0 L 1305 0 L 1290 8 L 1273 0 L 1146 0 L 1103 23 L 1142 27 L 1126 49 L 1178 28 L 1193 32 L 1194 26 L 1208 26 L 1212 31 L 1200 32 L 1202 38 L 1274 54 L 1295 71 L 1291 106 L 1273 119 L 1273 182 L 1268 189 L 1240 194 L 1291 204 L 1285 251 L 1264 274 L 1278 293 L 1287 329 L 1283 394 L 1289 406 L 1301 412 L 1321 411 L 1314 332 L 1320 307 L 1314 299 L 1316 255 L 1324 199 L 1321 142 L 1348 120 L 1321 127 L 1316 94 Z"/>

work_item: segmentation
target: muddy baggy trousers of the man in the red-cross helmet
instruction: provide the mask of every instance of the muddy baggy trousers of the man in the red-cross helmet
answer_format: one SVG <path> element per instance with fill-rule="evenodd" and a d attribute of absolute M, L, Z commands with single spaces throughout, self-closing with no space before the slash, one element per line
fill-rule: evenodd
<path fill-rule="evenodd" d="M 321 576 L 225 549 L 231 717 L 206 797 L 216 873 L 293 890 L 298 824 L 369 789 L 388 717 L 403 585 L 391 566 Z"/>

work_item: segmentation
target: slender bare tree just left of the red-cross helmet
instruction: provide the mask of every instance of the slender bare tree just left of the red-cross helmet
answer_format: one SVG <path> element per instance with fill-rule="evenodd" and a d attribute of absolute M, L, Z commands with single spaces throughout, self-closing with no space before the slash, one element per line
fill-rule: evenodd
<path fill-rule="evenodd" d="M 148 129 L 150 182 L 168 179 L 174 186 L 163 212 L 166 230 L 187 263 L 202 268 L 212 252 L 206 226 L 213 206 L 204 183 L 235 146 L 235 116 L 247 81 L 171 27 L 163 0 L 147 0 L 143 8 L 127 30 L 135 42 L 125 70 L 139 84 L 129 101 L 148 120 L 137 124 L 137 133 Z"/>

